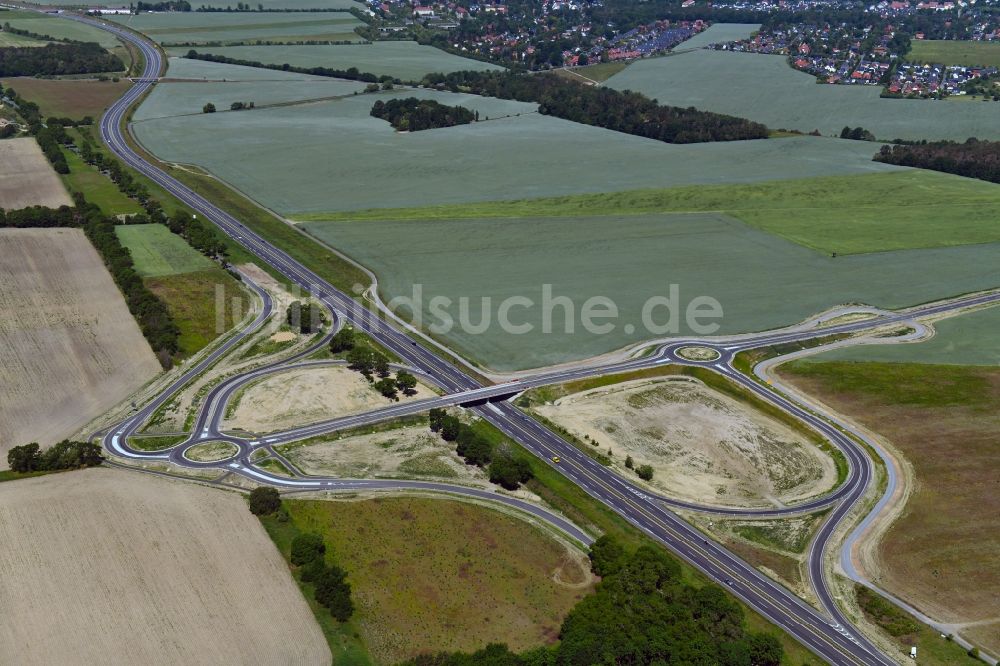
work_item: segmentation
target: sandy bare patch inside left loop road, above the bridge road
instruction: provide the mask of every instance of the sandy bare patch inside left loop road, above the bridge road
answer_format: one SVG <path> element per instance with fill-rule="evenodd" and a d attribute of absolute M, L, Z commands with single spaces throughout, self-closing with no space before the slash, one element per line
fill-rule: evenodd
<path fill-rule="evenodd" d="M 433 396 L 430 389 L 418 384 L 416 395 L 400 394 L 399 399 L 407 402 Z M 249 432 L 294 428 L 394 404 L 372 388 L 360 373 L 338 366 L 271 375 L 251 384 L 234 400 L 238 404 L 227 410 L 231 416 L 224 427 Z"/>

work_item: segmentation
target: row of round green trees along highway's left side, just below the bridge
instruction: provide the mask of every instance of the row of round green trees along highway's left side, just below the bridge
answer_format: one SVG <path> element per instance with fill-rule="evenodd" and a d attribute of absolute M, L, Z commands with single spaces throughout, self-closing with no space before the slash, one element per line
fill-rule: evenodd
<path fill-rule="evenodd" d="M 507 490 L 517 490 L 533 476 L 531 464 L 523 455 L 515 453 L 509 444 L 494 446 L 467 423 L 434 408 L 430 411 L 430 426 L 446 442 L 455 442 L 455 452 L 468 465 L 487 468 L 490 482 Z"/>

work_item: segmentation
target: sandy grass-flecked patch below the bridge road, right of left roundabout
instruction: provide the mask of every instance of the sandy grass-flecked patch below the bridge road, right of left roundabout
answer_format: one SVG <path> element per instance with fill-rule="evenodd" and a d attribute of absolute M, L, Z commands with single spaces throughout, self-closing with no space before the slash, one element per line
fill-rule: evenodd
<path fill-rule="evenodd" d="M 427 424 L 335 437 L 308 446 L 291 444 L 281 450 L 301 471 L 316 476 L 398 477 L 490 485 L 483 470 L 466 465 L 455 453 L 454 443 L 431 432 Z M 518 495 L 534 498 L 523 490 Z"/>

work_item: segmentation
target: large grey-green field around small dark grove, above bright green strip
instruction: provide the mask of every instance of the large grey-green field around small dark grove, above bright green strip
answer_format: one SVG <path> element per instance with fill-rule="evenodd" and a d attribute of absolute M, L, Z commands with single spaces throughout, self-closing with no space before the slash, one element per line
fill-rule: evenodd
<path fill-rule="evenodd" d="M 192 107 L 195 115 L 137 123 L 139 141 L 284 215 L 900 171 L 872 162 L 876 146 L 865 142 L 802 136 L 670 145 L 541 116 L 531 104 L 425 90 L 378 99 L 415 95 L 465 105 L 483 122 L 399 134 L 371 117 L 372 95 L 201 114 L 202 99 L 235 84 L 205 85 L 202 95 L 182 88 L 175 96 L 176 85 L 186 84 L 157 85 L 137 117 L 190 114 Z M 287 86 L 312 97 L 307 87 Z"/>

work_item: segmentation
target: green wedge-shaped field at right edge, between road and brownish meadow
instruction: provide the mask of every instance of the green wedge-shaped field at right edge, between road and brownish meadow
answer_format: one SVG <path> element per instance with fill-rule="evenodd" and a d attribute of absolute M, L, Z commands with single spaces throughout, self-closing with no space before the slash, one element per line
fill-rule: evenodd
<path fill-rule="evenodd" d="M 808 360 L 1000 366 L 1000 307 L 943 319 L 934 328 L 927 342 L 848 347 Z"/>

